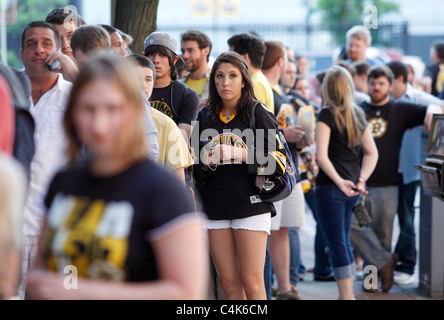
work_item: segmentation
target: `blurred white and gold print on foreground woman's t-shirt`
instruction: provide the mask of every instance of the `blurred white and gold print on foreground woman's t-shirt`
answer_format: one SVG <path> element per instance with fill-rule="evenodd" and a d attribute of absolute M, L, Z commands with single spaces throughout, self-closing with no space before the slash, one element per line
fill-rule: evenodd
<path fill-rule="evenodd" d="M 129 202 L 58 194 L 48 217 L 48 268 L 75 265 L 79 276 L 124 281 L 134 208 Z M 49 250 L 49 249 L 48 249 Z"/>

